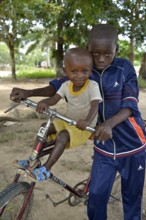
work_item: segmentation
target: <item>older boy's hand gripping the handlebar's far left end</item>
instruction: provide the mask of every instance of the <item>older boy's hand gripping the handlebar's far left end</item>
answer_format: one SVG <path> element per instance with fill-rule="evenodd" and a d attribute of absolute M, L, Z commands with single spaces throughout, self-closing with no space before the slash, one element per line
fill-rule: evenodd
<path fill-rule="evenodd" d="M 28 91 L 20 88 L 13 88 L 10 94 L 10 99 L 14 102 L 20 102 L 23 99 L 27 99 Z"/>

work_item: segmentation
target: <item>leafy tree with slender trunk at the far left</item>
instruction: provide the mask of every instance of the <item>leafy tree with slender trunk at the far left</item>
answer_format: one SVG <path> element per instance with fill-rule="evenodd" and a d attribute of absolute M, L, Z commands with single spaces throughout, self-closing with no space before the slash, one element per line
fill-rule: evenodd
<path fill-rule="evenodd" d="M 22 38 L 33 31 L 34 26 L 49 11 L 53 4 L 45 0 L 5 0 L 0 5 L 0 41 L 4 42 L 10 51 L 12 78 L 16 79 L 15 53 Z M 36 11 L 37 10 L 37 11 Z M 40 19 L 38 19 L 38 14 Z"/>

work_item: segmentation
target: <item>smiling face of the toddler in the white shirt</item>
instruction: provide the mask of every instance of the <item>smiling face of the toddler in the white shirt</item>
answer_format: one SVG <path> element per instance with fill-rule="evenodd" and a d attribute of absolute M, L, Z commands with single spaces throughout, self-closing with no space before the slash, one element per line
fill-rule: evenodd
<path fill-rule="evenodd" d="M 86 56 L 70 57 L 65 62 L 64 70 L 75 86 L 82 87 L 91 74 L 92 60 Z"/>

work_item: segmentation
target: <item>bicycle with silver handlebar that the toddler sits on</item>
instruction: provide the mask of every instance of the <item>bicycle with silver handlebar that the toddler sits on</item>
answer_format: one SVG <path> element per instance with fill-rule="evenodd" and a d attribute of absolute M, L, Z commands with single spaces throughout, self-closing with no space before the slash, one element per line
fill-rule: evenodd
<path fill-rule="evenodd" d="M 36 108 L 37 103 L 26 99 L 21 101 L 22 104 L 24 104 L 27 107 L 31 107 L 33 109 Z M 18 106 L 16 104 L 14 107 Z M 6 112 L 10 111 L 12 108 L 8 109 Z M 44 112 L 48 116 L 47 123 L 45 127 L 40 127 L 37 138 L 38 138 L 38 145 L 41 145 L 41 150 L 39 154 L 37 155 L 37 160 L 40 161 L 40 159 L 48 154 L 51 153 L 54 142 L 48 142 L 47 141 L 47 131 L 49 129 L 49 126 L 54 118 L 59 118 L 61 120 L 64 120 L 68 122 L 70 125 L 75 125 L 76 122 L 61 115 L 60 113 L 48 109 L 47 112 Z M 95 130 L 93 128 L 87 127 L 88 131 L 94 132 Z M 37 147 L 37 146 L 36 146 Z M 40 161 L 41 165 L 41 161 Z M 7 215 L 7 209 L 10 209 L 8 219 L 16 219 L 16 220 L 25 220 L 27 219 L 27 216 L 31 210 L 32 202 L 33 202 L 33 195 L 34 195 L 34 187 L 36 182 L 23 182 L 19 181 L 20 177 L 23 175 L 26 175 L 27 170 L 24 169 L 18 169 L 12 183 L 7 186 L 2 192 L 0 192 L 0 217 L 4 217 L 3 219 L 6 220 L 5 215 Z M 70 206 L 76 206 L 79 203 L 87 203 L 88 199 L 88 185 L 90 182 L 90 176 L 86 178 L 85 180 L 77 183 L 74 187 L 71 187 L 67 183 L 65 183 L 63 180 L 55 176 L 53 173 L 51 173 L 49 177 L 54 183 L 58 184 L 62 188 L 66 189 L 69 192 L 69 195 L 58 202 L 54 202 L 51 197 L 46 194 L 46 198 L 48 198 L 53 206 L 57 206 L 65 201 L 68 201 L 68 204 Z M 115 182 L 120 182 L 120 176 L 116 176 Z M 119 184 L 117 184 L 119 187 Z M 119 188 L 116 188 L 113 193 L 110 195 L 110 202 L 113 201 L 120 201 L 119 196 Z M 16 202 L 15 202 L 16 201 Z M 12 203 L 11 203 L 12 202 Z M 11 204 L 13 203 L 19 203 L 16 210 L 12 210 L 11 212 Z M 9 208 L 10 207 L 10 208 Z M 16 212 L 17 211 L 17 212 Z"/>

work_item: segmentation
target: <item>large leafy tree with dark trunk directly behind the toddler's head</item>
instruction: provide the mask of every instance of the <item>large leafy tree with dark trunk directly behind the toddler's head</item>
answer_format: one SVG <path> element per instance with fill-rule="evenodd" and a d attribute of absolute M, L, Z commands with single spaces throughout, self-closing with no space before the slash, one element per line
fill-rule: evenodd
<path fill-rule="evenodd" d="M 100 11 L 102 1 L 91 0 L 54 0 L 59 8 L 58 14 L 51 17 L 44 16 L 42 20 L 43 29 L 34 35 L 34 43 L 28 51 L 38 45 L 38 34 L 40 34 L 42 47 L 47 43 L 56 59 L 57 75 L 62 74 L 64 51 L 71 45 L 86 46 L 86 38 L 91 27 L 96 22 L 96 14 Z M 93 16 L 94 15 L 94 16 Z M 36 37 L 36 38 L 35 38 Z"/>

